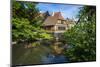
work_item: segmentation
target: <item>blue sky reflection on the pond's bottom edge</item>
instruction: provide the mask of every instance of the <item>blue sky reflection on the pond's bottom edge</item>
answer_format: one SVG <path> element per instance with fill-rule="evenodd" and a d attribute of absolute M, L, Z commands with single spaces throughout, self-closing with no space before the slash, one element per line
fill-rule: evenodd
<path fill-rule="evenodd" d="M 68 62 L 68 58 L 66 58 L 64 55 L 48 54 L 47 56 L 42 57 L 42 63 L 43 64 L 64 63 L 64 62 Z"/>

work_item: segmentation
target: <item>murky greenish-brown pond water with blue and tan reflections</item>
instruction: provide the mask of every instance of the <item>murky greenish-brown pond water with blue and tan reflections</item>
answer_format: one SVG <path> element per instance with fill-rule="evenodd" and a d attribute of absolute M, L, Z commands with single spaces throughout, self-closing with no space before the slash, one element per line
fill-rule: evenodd
<path fill-rule="evenodd" d="M 41 44 L 35 48 L 25 48 L 22 44 L 13 46 L 13 64 L 53 64 L 53 63 L 67 63 L 68 58 L 63 55 L 63 48 L 59 42 L 50 45 Z M 27 61 L 26 61 L 27 60 Z M 35 61 L 34 61 L 35 60 Z"/>

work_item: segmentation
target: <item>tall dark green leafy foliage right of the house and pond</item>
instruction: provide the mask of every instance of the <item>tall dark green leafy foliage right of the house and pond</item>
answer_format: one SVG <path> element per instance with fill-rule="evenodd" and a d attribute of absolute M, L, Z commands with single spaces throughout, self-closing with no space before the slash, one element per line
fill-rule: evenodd
<path fill-rule="evenodd" d="M 96 60 L 95 13 L 95 7 L 82 7 L 78 24 L 64 33 L 64 40 L 70 46 L 65 51 L 65 55 L 70 58 L 70 61 Z"/>

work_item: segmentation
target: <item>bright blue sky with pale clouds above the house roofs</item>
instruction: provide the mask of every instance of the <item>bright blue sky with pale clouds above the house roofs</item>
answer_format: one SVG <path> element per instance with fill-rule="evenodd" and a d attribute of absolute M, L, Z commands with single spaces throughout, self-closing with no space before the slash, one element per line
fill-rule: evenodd
<path fill-rule="evenodd" d="M 55 4 L 55 3 L 39 3 L 36 8 L 41 12 L 49 11 L 52 12 L 61 12 L 64 18 L 74 18 L 79 12 L 81 5 L 71 5 L 71 4 Z"/>

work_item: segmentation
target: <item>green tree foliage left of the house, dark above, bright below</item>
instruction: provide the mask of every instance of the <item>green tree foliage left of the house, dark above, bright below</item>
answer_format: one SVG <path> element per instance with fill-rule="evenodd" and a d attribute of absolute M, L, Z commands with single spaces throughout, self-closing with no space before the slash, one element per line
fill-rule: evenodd
<path fill-rule="evenodd" d="M 39 16 L 37 3 L 14 1 L 12 4 L 12 40 L 15 42 L 51 39 L 41 28 L 42 18 Z"/>

